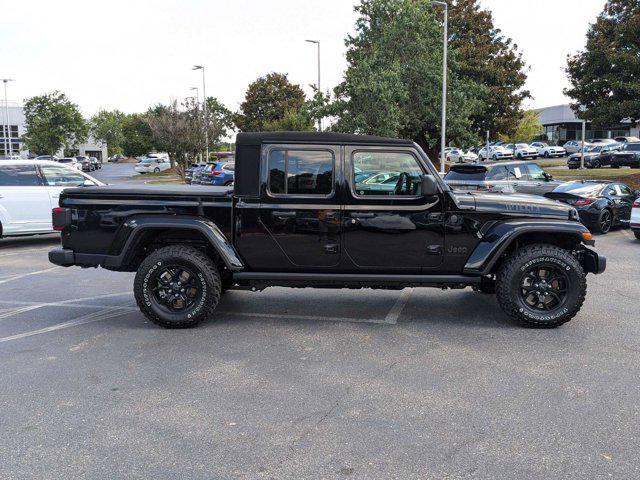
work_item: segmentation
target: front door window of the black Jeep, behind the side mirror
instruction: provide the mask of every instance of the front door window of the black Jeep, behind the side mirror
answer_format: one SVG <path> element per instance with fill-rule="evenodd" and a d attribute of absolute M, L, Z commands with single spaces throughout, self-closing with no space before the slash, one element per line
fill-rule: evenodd
<path fill-rule="evenodd" d="M 415 196 L 424 173 L 418 159 L 408 152 L 355 152 L 353 168 L 354 190 L 360 196 Z"/>

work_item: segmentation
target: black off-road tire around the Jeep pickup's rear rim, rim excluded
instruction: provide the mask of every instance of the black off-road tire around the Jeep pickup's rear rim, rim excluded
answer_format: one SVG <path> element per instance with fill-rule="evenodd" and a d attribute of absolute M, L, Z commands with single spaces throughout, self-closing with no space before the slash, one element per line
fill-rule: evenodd
<path fill-rule="evenodd" d="M 152 278 L 154 272 L 163 265 L 180 265 L 191 270 L 197 277 L 202 296 L 190 308 L 177 313 L 169 313 L 157 305 L 152 298 Z M 133 292 L 138 307 L 156 325 L 164 328 L 194 327 L 203 320 L 212 318 L 220 301 L 220 274 L 211 258 L 200 250 L 184 245 L 170 245 L 160 248 L 145 258 L 133 283 Z"/>

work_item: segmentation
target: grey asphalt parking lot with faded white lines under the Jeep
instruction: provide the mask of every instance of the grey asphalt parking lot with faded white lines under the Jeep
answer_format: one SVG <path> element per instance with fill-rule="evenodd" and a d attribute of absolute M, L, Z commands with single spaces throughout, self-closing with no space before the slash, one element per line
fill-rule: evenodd
<path fill-rule="evenodd" d="M 637 258 L 599 237 L 576 319 L 470 290 L 225 294 L 169 331 L 133 275 L 0 240 L 0 478 L 638 478 Z"/>

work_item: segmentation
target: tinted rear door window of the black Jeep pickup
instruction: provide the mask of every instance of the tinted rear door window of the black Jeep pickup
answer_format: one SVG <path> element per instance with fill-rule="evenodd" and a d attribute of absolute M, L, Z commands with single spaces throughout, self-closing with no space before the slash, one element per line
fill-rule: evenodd
<path fill-rule="evenodd" d="M 275 195 L 329 195 L 333 153 L 328 150 L 272 150 L 269 192 Z"/>

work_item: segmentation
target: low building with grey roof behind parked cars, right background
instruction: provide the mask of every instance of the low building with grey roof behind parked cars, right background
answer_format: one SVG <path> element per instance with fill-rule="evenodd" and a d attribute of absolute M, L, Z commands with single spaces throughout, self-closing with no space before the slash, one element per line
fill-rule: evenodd
<path fill-rule="evenodd" d="M 567 105 L 536 110 L 544 135 L 549 143 L 564 145 L 569 140 L 582 140 L 582 120 Z M 623 119 L 616 125 L 609 125 L 604 130 L 593 130 L 591 122 L 586 122 L 586 139 L 640 137 L 640 125 Z"/>

